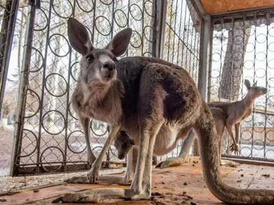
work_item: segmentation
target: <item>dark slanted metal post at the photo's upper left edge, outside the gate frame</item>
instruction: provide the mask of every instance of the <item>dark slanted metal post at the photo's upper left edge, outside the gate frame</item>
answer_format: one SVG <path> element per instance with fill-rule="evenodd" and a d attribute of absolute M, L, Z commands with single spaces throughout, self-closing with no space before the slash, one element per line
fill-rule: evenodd
<path fill-rule="evenodd" d="M 0 119 L 5 93 L 5 83 L 8 78 L 8 67 L 10 61 L 10 53 L 12 51 L 12 42 L 16 24 L 18 4 L 19 1 L 7 1 L 2 20 L 0 51 L 3 51 L 3 56 L 1 56 L 0 58 Z"/>

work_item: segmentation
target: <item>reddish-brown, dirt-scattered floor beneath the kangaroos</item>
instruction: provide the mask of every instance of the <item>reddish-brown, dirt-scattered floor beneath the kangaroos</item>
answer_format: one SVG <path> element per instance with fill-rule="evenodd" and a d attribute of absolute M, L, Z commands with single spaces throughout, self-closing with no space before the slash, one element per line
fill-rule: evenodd
<path fill-rule="evenodd" d="M 238 167 L 221 167 L 225 183 L 240 189 L 273 189 L 274 167 L 242 164 Z M 61 184 L 54 187 L 21 191 L 4 195 L 0 204 L 51 204 L 64 193 L 95 188 L 121 187 L 108 184 Z M 126 186 L 124 186 L 126 187 Z M 201 162 L 188 162 L 179 167 L 153 169 L 151 200 L 105 200 L 99 204 L 223 204 L 206 187 Z"/>

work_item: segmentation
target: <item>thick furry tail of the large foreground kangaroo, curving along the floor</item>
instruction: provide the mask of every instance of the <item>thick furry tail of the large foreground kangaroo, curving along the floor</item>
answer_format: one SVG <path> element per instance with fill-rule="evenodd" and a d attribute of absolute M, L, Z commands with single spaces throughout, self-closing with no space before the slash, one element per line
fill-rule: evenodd
<path fill-rule="evenodd" d="M 195 124 L 203 163 L 203 178 L 208 189 L 219 200 L 229 204 L 274 204 L 274 191 L 265 189 L 236 189 L 223 183 L 219 170 L 219 150 L 212 113 L 203 102 L 201 115 Z"/>

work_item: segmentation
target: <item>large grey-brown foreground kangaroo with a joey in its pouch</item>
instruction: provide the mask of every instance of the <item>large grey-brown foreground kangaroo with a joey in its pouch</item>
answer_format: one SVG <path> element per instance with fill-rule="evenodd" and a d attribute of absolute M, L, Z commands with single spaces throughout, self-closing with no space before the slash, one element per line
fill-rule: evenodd
<path fill-rule="evenodd" d="M 126 131 L 134 139 L 138 154 L 133 149 L 127 155 L 129 166 L 136 165 L 132 168 L 136 172 L 128 189 L 90 189 L 68 193 L 53 202 L 149 199 L 152 166 L 148 164 L 153 152 L 170 152 L 177 143 L 177 135 L 186 136 L 192 128 L 199 137 L 203 176 L 208 189 L 219 200 L 230 204 L 274 202 L 274 191 L 236 189 L 222 182 L 214 119 L 186 70 L 154 57 L 118 60 L 117 57 L 127 50 L 132 35 L 129 28 L 117 33 L 104 49 L 92 46 L 86 27 L 75 18 L 68 19 L 68 34 L 73 49 L 83 56 L 80 77 L 71 99 L 73 108 L 79 118 L 94 118 L 111 125 L 110 135 L 88 172 L 88 180 L 91 183 L 100 180 L 103 155 L 119 131 Z"/>

